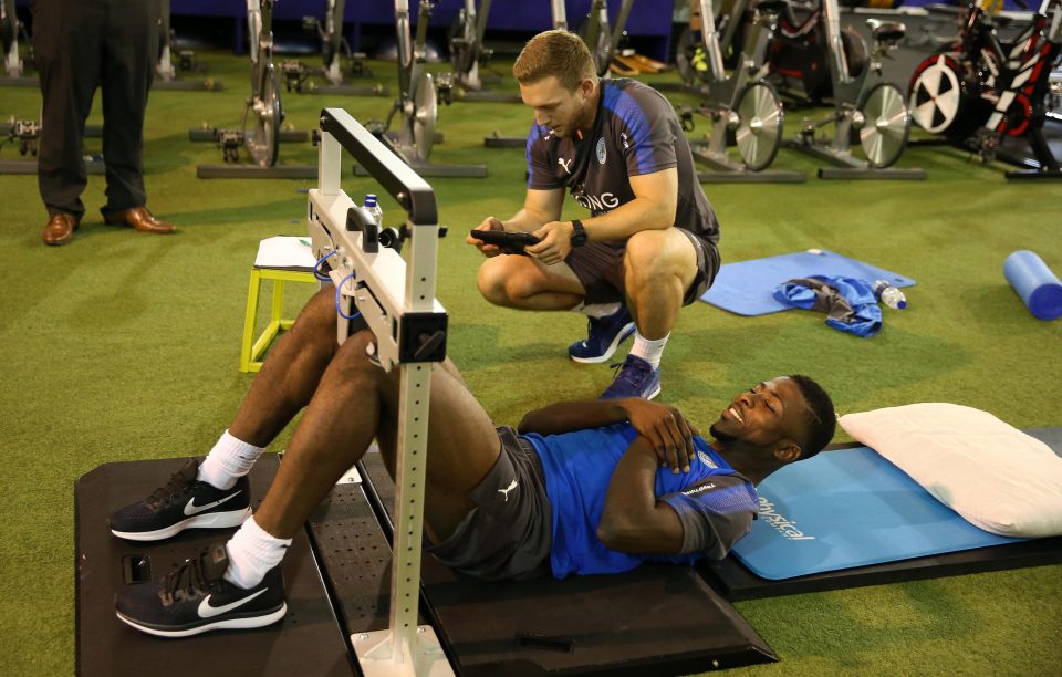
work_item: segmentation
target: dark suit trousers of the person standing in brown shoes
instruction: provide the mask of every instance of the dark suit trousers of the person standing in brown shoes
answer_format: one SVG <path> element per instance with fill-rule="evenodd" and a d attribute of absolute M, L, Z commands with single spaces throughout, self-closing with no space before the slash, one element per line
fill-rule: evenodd
<path fill-rule="evenodd" d="M 158 0 L 32 0 L 33 54 L 44 95 L 38 183 L 50 215 L 85 212 L 82 139 L 103 95 L 104 215 L 147 201 L 144 113 L 158 58 Z"/>

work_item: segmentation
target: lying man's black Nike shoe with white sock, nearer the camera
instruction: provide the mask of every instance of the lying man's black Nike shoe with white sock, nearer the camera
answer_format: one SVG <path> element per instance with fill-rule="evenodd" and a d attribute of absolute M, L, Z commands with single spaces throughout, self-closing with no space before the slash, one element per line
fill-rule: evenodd
<path fill-rule="evenodd" d="M 250 590 L 225 580 L 228 565 L 225 543 L 215 543 L 155 584 L 126 586 L 115 595 L 115 613 L 122 622 L 159 637 L 262 627 L 284 617 L 280 564 Z"/>

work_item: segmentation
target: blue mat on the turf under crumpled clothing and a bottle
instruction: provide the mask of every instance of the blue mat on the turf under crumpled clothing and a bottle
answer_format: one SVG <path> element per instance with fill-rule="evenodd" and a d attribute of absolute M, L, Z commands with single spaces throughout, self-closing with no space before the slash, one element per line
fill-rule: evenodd
<path fill-rule="evenodd" d="M 884 268 L 825 249 L 815 249 L 727 263 L 719 269 L 711 289 L 700 300 L 738 315 L 766 315 L 792 310 L 792 305 L 774 299 L 774 288 L 782 282 L 810 275 L 857 278 L 867 282 L 889 280 L 897 288 L 915 283 L 910 278 Z"/>

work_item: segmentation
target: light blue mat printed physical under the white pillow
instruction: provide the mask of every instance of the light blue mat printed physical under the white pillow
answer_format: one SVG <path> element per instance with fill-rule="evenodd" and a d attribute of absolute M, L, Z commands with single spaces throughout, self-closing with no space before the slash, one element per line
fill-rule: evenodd
<path fill-rule="evenodd" d="M 757 492 L 760 517 L 732 552 L 771 581 L 1024 540 L 970 524 L 868 447 L 823 451 Z"/>

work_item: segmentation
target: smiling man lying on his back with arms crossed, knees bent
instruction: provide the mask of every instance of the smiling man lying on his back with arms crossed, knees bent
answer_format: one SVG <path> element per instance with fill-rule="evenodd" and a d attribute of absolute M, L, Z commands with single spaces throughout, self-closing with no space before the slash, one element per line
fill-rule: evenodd
<path fill-rule="evenodd" d="M 394 475 L 398 371 L 335 341 L 332 290 L 280 340 L 228 430 L 142 502 L 117 511 L 117 537 L 154 541 L 230 528 L 153 585 L 128 586 L 118 617 L 162 636 L 280 619 L 280 562 L 335 482 L 377 440 Z M 277 477 L 250 517 L 246 475 L 305 407 Z M 614 573 L 644 561 L 723 558 L 758 511 L 753 485 L 822 449 L 830 397 L 805 376 L 742 393 L 711 426 L 712 446 L 675 408 L 642 398 L 563 403 L 494 428 L 447 361 L 433 365 L 425 531 L 440 562 L 482 579 Z M 248 519 L 249 518 L 249 519 Z M 246 520 L 246 521 L 244 521 Z"/>

